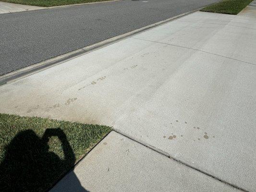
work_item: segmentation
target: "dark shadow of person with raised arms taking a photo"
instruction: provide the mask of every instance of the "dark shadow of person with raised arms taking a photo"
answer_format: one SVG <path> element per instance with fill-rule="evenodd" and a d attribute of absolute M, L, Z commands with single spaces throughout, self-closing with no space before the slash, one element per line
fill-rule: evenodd
<path fill-rule="evenodd" d="M 61 141 L 63 160 L 49 151 L 48 142 L 52 136 Z M 45 192 L 74 164 L 73 149 L 61 129 L 47 129 L 42 138 L 32 130 L 19 132 L 6 147 L 4 160 L 0 164 L 0 191 Z M 75 187 L 73 191 L 87 192 L 73 172 L 71 178 Z"/>

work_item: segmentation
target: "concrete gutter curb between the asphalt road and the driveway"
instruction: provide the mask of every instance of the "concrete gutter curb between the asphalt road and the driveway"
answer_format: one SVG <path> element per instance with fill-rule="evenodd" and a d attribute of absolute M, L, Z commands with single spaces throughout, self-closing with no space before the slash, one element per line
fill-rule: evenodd
<path fill-rule="evenodd" d="M 119 1 L 119 0 L 113 0 L 113 1 Z M 102 1 L 102 2 L 109 2 L 109 1 Z M 218 3 L 218 2 L 216 2 L 216 3 Z M 212 4 L 215 4 L 215 3 L 212 3 Z M 212 5 L 212 4 L 209 4 L 209 5 Z M 65 62 L 65 61 L 72 60 L 76 57 L 79 57 L 79 56 L 84 55 L 86 53 L 89 53 L 91 51 L 94 51 L 94 50 L 97 50 L 99 48 L 103 48 L 105 46 L 111 45 L 111 44 L 116 43 L 118 41 L 121 41 L 122 39 L 127 38 L 129 36 L 133 36 L 135 34 L 142 33 L 146 30 L 149 30 L 149 29 L 157 27 L 159 25 L 168 23 L 172 20 L 179 19 L 179 18 L 181 18 L 183 16 L 186 16 L 188 14 L 191 14 L 193 12 L 200 11 L 201 9 L 203 9 L 204 7 L 207 7 L 209 5 L 206 5 L 206 6 L 198 8 L 198 9 L 195 9 L 195 10 L 192 10 L 192 11 L 189 11 L 189 12 L 185 12 L 185 13 L 170 17 L 168 19 L 159 21 L 159 22 L 154 23 L 154 24 L 146 25 L 146 26 L 141 27 L 139 29 L 135 29 L 133 31 L 124 33 L 124 34 L 119 35 L 119 36 L 111 37 L 109 39 L 100 41 L 98 43 L 88 45 L 88 46 L 85 46 L 83 48 L 79 48 L 79 49 L 73 50 L 71 52 L 59 55 L 57 57 L 53 57 L 51 59 L 44 60 L 44 61 L 32 64 L 32 65 L 24 67 L 22 69 L 3 74 L 2 76 L 0 76 L 0 86 L 4 85 L 4 84 L 12 83 L 12 82 L 17 81 L 21 78 L 24 78 L 24 77 L 32 75 L 34 73 L 46 70 L 46 69 L 48 69 L 50 67 L 53 67 L 55 65 L 59 65 L 59 64 Z"/>

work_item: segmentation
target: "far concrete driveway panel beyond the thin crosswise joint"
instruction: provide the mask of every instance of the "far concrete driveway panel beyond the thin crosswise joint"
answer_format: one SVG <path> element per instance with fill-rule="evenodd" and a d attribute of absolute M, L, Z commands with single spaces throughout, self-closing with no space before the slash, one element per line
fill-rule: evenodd
<path fill-rule="evenodd" d="M 254 36 L 254 17 L 195 12 L 134 38 L 198 49 L 256 64 Z"/>

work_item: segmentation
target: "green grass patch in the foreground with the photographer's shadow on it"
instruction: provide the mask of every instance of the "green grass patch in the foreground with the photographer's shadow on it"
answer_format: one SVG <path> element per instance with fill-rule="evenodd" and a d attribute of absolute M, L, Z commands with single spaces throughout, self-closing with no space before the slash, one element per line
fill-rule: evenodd
<path fill-rule="evenodd" d="M 47 191 L 110 131 L 102 125 L 0 114 L 0 191 Z"/>

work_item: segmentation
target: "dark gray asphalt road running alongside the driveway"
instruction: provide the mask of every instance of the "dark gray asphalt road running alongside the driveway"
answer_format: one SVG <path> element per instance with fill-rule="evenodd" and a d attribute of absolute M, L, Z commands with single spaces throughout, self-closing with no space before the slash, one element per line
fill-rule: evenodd
<path fill-rule="evenodd" d="M 122 0 L 0 14 L 0 75 L 219 0 Z"/>

